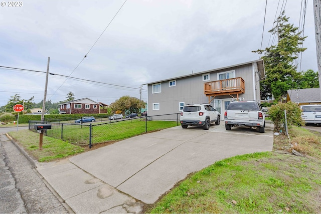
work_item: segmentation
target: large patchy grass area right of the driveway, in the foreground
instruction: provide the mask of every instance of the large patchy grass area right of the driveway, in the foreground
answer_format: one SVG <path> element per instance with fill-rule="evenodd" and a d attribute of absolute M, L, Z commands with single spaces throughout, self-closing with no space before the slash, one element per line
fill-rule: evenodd
<path fill-rule="evenodd" d="M 300 127 L 290 130 L 298 157 L 262 152 L 217 161 L 189 175 L 146 213 L 320 213 L 320 139 Z M 274 149 L 290 148 L 284 135 Z"/>

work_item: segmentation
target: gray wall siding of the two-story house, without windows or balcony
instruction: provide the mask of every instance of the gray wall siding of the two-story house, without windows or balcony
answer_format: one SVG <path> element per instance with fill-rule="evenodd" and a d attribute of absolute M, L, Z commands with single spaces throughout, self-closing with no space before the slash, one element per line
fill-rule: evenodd
<path fill-rule="evenodd" d="M 245 93 L 239 94 L 240 98 L 245 100 L 260 101 L 260 88 L 259 88 L 259 75 L 257 63 L 249 63 L 235 67 L 224 68 L 222 70 L 200 72 L 190 76 L 173 78 L 176 80 L 176 86 L 169 86 L 169 81 L 160 81 L 162 84 L 161 93 L 152 93 L 152 85 L 148 85 L 148 115 L 161 115 L 170 113 L 180 113 L 179 104 L 191 103 L 208 103 L 209 98 L 204 94 L 204 83 L 218 80 L 218 73 L 235 70 L 235 77 L 242 77 L 245 82 Z M 203 74 L 210 74 L 209 81 L 203 81 Z M 253 80 L 255 78 L 255 80 Z M 236 98 L 236 95 L 233 94 Z M 213 97 L 211 97 L 212 99 Z M 230 99 L 233 98 L 229 95 L 216 96 L 215 99 Z M 214 104 L 214 100 L 211 104 Z M 159 110 L 153 110 L 153 103 L 159 103 Z"/>

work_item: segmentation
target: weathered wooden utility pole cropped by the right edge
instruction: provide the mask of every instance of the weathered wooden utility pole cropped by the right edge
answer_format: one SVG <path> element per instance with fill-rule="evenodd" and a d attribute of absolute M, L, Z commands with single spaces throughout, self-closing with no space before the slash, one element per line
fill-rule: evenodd
<path fill-rule="evenodd" d="M 321 89 L 321 0 L 313 0 L 314 25 L 315 25 L 315 44 L 317 73 L 319 77 L 319 88 Z"/>

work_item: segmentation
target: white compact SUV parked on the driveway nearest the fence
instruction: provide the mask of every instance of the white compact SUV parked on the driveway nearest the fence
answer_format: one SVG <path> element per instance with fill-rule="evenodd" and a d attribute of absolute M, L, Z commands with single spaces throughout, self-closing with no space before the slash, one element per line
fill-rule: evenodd
<path fill-rule="evenodd" d="M 183 107 L 180 120 L 183 128 L 203 126 L 208 130 L 211 123 L 220 125 L 220 113 L 210 104 L 190 104 Z"/>

